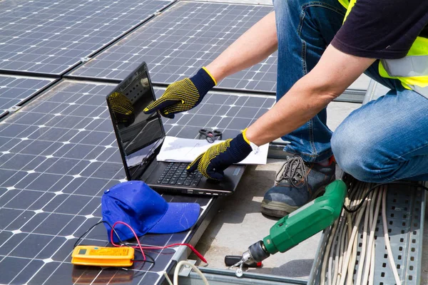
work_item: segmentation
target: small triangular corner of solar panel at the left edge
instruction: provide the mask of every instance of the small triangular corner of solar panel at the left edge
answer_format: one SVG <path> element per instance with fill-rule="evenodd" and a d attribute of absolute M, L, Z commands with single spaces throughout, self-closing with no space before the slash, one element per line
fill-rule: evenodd
<path fill-rule="evenodd" d="M 0 76 L 0 118 L 54 83 L 54 79 Z"/>

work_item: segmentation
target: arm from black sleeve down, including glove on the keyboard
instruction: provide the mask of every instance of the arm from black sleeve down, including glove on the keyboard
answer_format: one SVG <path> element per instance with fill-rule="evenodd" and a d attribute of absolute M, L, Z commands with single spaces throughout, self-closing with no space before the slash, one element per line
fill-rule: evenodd
<path fill-rule="evenodd" d="M 205 177 L 221 180 L 225 168 L 250 154 L 250 142 L 264 145 L 296 130 L 342 94 L 373 62 L 372 58 L 350 56 L 328 46 L 317 66 L 271 110 L 233 140 L 210 147 L 188 170 L 198 169 Z"/>

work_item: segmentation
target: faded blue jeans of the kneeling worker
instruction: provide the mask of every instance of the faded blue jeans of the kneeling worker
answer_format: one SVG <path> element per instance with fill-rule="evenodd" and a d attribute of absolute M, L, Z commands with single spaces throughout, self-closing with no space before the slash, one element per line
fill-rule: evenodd
<path fill-rule="evenodd" d="M 278 37 L 277 100 L 320 60 L 342 26 L 338 0 L 273 0 Z M 378 61 L 365 74 L 392 90 L 352 112 L 332 131 L 324 109 L 282 137 L 284 150 L 318 162 L 335 155 L 342 170 L 366 182 L 428 180 L 428 99 L 382 78 Z"/>

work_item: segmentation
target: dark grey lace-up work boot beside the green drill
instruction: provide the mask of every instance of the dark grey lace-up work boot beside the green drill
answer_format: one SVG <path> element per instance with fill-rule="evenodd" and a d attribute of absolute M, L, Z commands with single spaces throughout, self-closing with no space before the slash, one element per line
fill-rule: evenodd
<path fill-rule="evenodd" d="M 312 199 L 322 195 L 335 180 L 336 163 L 332 159 L 308 163 L 302 157 L 288 159 L 262 201 L 261 212 L 267 216 L 284 217 Z"/>

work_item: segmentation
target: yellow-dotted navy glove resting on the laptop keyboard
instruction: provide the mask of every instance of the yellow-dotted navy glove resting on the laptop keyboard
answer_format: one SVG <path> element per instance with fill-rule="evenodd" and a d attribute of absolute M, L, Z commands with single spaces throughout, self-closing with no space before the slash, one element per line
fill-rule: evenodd
<path fill-rule="evenodd" d="M 222 180 L 224 177 L 223 170 L 244 160 L 253 151 L 250 141 L 245 137 L 246 130 L 234 139 L 225 140 L 208 148 L 206 152 L 203 152 L 190 163 L 187 168 L 188 172 L 198 169 L 207 178 Z"/>

